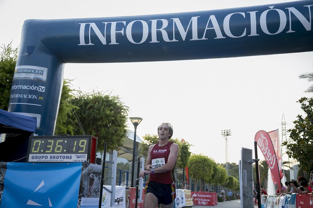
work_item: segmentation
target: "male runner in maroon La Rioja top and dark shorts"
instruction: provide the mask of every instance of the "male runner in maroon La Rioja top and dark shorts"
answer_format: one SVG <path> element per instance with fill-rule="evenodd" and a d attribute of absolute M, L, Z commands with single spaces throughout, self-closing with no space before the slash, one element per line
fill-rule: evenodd
<path fill-rule="evenodd" d="M 178 145 L 168 141 L 173 135 L 169 123 L 162 123 L 158 128 L 159 142 L 150 145 L 145 165 L 146 171 L 139 176 L 149 175 L 145 187 L 144 208 L 172 208 L 176 197 L 174 169 L 178 155 Z"/>

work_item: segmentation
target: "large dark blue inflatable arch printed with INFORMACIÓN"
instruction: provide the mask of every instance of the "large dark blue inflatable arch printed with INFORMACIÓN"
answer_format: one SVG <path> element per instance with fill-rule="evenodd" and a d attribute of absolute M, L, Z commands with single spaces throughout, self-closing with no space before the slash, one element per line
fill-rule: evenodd
<path fill-rule="evenodd" d="M 9 111 L 53 135 L 64 63 L 164 61 L 312 51 L 312 0 L 174 14 L 24 22 Z"/>

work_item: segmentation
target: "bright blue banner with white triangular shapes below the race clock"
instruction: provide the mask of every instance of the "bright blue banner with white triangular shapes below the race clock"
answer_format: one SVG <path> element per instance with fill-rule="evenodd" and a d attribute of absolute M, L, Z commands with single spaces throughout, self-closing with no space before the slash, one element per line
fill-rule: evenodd
<path fill-rule="evenodd" d="M 0 208 L 76 208 L 82 163 L 8 162 Z"/>

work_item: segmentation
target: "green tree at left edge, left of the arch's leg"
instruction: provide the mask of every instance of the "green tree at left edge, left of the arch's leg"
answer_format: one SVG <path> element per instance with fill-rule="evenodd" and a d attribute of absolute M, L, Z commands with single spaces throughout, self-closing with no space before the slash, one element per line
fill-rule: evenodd
<path fill-rule="evenodd" d="M 18 48 L 13 48 L 11 41 L 1 45 L 0 50 L 0 109 L 8 110 Z"/>

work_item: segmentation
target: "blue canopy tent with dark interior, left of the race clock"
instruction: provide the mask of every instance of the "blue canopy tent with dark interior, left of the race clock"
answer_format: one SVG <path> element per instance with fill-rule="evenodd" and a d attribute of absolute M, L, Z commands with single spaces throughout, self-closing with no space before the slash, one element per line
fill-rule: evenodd
<path fill-rule="evenodd" d="M 28 138 L 36 131 L 37 119 L 0 109 L 0 133 L 5 141 L 0 143 L 0 161 L 26 162 Z"/>

